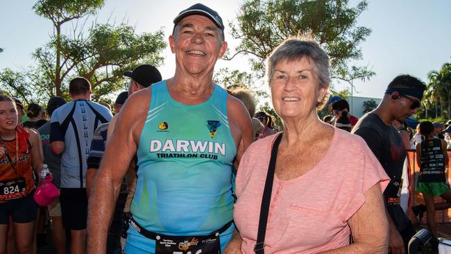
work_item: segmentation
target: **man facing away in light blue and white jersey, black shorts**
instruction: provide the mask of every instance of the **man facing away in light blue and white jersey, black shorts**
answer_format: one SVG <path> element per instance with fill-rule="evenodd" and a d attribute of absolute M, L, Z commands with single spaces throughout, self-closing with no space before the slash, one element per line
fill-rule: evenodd
<path fill-rule="evenodd" d="M 91 84 L 76 77 L 69 83 L 71 102 L 51 116 L 51 150 L 61 157 L 62 223 L 71 231 L 71 253 L 85 253 L 87 195 L 86 159 L 94 130 L 111 120 L 110 110 L 91 100 Z"/>

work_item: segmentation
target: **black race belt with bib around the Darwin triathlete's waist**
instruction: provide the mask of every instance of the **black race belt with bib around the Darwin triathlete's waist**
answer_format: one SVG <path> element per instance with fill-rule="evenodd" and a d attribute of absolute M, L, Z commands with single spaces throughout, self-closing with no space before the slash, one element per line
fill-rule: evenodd
<path fill-rule="evenodd" d="M 180 235 L 162 235 L 160 233 L 151 232 L 143 228 L 133 219 L 130 218 L 130 225 L 139 232 L 139 234 L 148 239 L 155 240 L 155 254 L 220 254 L 221 244 L 219 235 L 226 231 L 232 225 L 233 221 L 229 221 L 219 230 L 212 232 L 210 235 L 199 236 L 180 236 Z"/>

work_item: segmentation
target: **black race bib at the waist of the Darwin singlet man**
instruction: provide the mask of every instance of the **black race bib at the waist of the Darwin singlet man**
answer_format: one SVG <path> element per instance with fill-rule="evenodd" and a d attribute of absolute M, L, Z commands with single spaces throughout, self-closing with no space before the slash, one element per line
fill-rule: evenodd
<path fill-rule="evenodd" d="M 156 254 L 219 254 L 219 232 L 200 237 L 158 235 L 155 239 Z"/>

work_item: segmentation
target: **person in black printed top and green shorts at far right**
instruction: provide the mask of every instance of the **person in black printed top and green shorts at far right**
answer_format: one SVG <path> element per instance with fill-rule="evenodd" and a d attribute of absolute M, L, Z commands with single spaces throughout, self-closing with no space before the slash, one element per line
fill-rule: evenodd
<path fill-rule="evenodd" d="M 434 137 L 434 125 L 430 121 L 420 123 L 420 134 L 425 140 L 416 145 L 416 162 L 420 165 L 416 191 L 423 194 L 425 199 L 427 226 L 439 237 L 434 218 L 435 210 L 449 208 L 451 203 L 451 190 L 445 176 L 445 165 L 449 162 L 448 152 L 445 140 Z M 441 196 L 448 203 L 435 204 L 435 196 Z"/>

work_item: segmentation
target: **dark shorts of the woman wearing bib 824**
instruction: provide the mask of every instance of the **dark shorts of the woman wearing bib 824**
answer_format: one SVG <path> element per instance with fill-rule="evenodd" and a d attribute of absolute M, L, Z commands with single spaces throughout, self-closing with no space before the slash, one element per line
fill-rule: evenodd
<path fill-rule="evenodd" d="M 33 194 L 35 194 L 34 190 L 22 198 L 15 198 L 6 203 L 0 203 L 0 224 L 8 224 L 10 215 L 12 221 L 17 223 L 35 221 L 39 205 L 35 202 Z"/>

